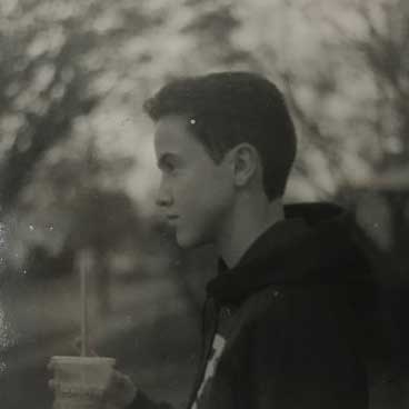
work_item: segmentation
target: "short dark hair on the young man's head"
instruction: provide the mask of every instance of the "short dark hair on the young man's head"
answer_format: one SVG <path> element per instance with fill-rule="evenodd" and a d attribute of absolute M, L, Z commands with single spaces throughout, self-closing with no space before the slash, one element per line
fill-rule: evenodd
<path fill-rule="evenodd" d="M 297 138 L 285 99 L 266 78 L 217 72 L 173 80 L 143 106 L 153 121 L 181 114 L 219 163 L 235 146 L 251 143 L 260 154 L 269 200 L 285 192 Z"/>

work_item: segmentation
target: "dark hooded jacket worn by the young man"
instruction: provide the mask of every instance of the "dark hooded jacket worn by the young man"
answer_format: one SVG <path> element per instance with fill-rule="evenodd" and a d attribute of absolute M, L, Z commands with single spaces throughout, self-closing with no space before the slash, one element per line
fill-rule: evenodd
<path fill-rule="evenodd" d="M 368 408 L 376 289 L 356 231 L 336 206 L 292 205 L 233 269 L 220 260 L 189 408 Z M 226 342 L 208 373 L 216 333 Z M 140 393 L 134 408 L 149 406 Z"/>

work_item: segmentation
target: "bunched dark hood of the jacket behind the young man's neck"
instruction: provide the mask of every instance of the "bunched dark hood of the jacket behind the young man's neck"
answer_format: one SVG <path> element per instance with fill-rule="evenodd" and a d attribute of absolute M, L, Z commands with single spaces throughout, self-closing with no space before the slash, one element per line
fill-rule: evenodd
<path fill-rule="evenodd" d="M 370 265 L 362 237 L 350 213 L 331 203 L 285 207 L 285 220 L 265 231 L 207 290 L 221 303 L 240 303 L 265 287 L 313 285 L 368 285 Z"/>

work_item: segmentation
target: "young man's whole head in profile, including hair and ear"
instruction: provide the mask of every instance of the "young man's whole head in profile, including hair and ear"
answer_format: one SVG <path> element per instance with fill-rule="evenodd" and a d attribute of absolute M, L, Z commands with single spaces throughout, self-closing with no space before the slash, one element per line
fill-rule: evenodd
<path fill-rule="evenodd" d="M 296 134 L 281 93 L 267 79 L 248 72 L 179 79 L 149 99 L 144 109 L 157 124 L 163 177 L 159 203 L 170 215 L 176 211 L 182 246 L 212 241 L 229 217 L 235 192 L 248 188 L 249 193 L 250 187 L 255 191 L 257 178 L 267 200 L 282 197 Z M 174 172 L 177 167 L 183 169 Z M 167 193 L 172 197 L 163 200 Z M 183 209 L 169 205 L 176 199 Z M 203 225 L 196 230 L 207 235 L 183 238 L 180 212 L 191 213 Z M 191 227 L 194 222 L 189 220 Z"/>

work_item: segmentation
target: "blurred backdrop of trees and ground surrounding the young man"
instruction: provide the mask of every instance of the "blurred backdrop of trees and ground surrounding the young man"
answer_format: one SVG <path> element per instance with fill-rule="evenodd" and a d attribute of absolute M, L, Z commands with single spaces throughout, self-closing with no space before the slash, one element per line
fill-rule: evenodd
<path fill-rule="evenodd" d="M 154 212 L 141 109 L 178 76 L 253 70 L 279 86 L 299 133 L 288 201 L 356 212 L 391 260 L 407 333 L 408 44 L 405 0 L 2 0 L 1 407 L 51 407 L 46 366 L 74 353 L 83 248 L 98 351 L 158 399 L 186 399 L 215 257 L 182 253 Z M 372 407 L 403 407 L 407 379 Z"/>

